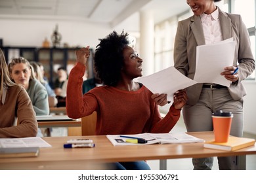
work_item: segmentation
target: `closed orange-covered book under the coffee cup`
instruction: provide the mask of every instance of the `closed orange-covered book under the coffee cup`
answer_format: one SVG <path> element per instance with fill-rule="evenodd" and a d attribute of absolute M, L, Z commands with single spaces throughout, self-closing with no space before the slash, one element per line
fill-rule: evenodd
<path fill-rule="evenodd" d="M 218 150 L 226 150 L 226 151 L 235 151 L 242 148 L 246 148 L 248 146 L 253 146 L 255 144 L 255 139 L 248 139 L 243 137 L 228 137 L 228 142 L 215 142 L 209 141 L 203 144 L 205 148 L 212 148 Z"/>

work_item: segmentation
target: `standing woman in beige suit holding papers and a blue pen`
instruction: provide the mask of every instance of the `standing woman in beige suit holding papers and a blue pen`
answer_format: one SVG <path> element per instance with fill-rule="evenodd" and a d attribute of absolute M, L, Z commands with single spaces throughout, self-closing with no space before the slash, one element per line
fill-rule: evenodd
<path fill-rule="evenodd" d="M 186 88 L 188 102 L 182 110 L 183 118 L 188 131 L 213 131 L 212 112 L 230 111 L 234 114 L 230 135 L 242 137 L 242 97 L 246 94 L 242 80 L 253 73 L 255 61 L 251 53 L 249 34 L 241 16 L 223 12 L 215 5 L 217 1 L 221 0 L 186 0 L 194 16 L 178 24 L 174 66 L 183 75 L 193 79 L 196 70 L 196 46 L 232 37 L 236 41 L 233 65 L 226 65 L 222 73 L 216 73 L 224 76 L 231 84 L 228 88 L 215 83 L 195 84 Z M 237 67 L 238 73 L 232 75 Z M 219 157 L 218 161 L 219 169 L 239 168 L 236 166 L 238 160 L 234 157 Z M 192 162 L 194 169 L 211 169 L 213 158 L 192 159 Z"/>

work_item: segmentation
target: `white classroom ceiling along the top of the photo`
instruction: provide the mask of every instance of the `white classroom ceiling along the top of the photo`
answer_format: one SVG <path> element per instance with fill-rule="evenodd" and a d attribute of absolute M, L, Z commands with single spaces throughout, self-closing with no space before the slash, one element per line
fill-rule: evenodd
<path fill-rule="evenodd" d="M 121 24 L 139 31 L 139 11 L 150 10 L 155 22 L 188 10 L 185 0 L 0 0 L 0 18 L 79 20 Z"/>

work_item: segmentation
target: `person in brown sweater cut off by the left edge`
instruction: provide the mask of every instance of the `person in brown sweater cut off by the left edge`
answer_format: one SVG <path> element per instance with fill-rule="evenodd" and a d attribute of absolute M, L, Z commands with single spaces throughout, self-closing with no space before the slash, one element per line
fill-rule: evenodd
<path fill-rule="evenodd" d="M 0 49 L 0 138 L 35 135 L 37 120 L 30 97 L 22 86 L 12 82 L 5 56 Z"/>

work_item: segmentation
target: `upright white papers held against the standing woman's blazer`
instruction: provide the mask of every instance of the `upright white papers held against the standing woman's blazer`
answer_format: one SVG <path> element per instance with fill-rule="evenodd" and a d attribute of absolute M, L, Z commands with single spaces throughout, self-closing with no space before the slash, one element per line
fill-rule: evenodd
<path fill-rule="evenodd" d="M 199 83 L 216 83 L 230 86 L 221 73 L 224 67 L 233 65 L 236 42 L 233 38 L 214 44 L 196 47 L 196 73 L 194 80 Z"/>

